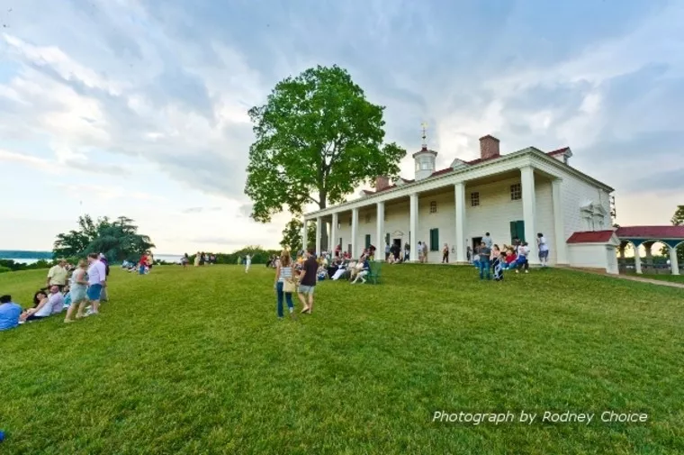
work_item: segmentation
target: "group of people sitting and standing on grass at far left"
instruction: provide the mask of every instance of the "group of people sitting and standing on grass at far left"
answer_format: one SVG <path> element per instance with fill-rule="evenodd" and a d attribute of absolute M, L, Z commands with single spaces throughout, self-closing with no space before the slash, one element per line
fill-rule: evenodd
<path fill-rule="evenodd" d="M 65 323 L 99 314 L 100 304 L 109 300 L 108 276 L 109 264 L 102 253 L 89 254 L 76 265 L 58 259 L 49 268 L 47 286 L 34 293 L 32 305 L 23 308 L 11 295 L 0 296 L 0 331 L 56 314 L 65 314 Z"/>

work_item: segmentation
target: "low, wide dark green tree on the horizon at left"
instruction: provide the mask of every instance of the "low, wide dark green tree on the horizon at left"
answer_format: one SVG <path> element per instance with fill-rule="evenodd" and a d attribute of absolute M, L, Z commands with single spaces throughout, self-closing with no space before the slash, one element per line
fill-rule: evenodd
<path fill-rule="evenodd" d="M 101 252 L 107 259 L 119 261 L 137 260 L 151 248 L 152 241 L 138 233 L 130 218 L 120 216 L 111 221 L 105 216 L 94 221 L 86 214 L 78 217 L 77 230 L 58 234 L 52 253 L 54 258 L 74 258 Z"/>

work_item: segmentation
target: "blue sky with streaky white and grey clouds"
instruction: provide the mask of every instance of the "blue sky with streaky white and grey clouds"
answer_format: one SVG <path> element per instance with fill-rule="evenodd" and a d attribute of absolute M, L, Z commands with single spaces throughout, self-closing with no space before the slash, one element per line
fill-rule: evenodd
<path fill-rule="evenodd" d="M 684 204 L 684 2 L 0 0 L 0 249 L 50 250 L 80 214 L 126 215 L 157 253 L 276 248 L 249 218 L 247 110 L 315 65 L 347 68 L 437 167 L 572 148 L 617 223 Z M 350 197 L 353 197 L 351 195 Z"/>

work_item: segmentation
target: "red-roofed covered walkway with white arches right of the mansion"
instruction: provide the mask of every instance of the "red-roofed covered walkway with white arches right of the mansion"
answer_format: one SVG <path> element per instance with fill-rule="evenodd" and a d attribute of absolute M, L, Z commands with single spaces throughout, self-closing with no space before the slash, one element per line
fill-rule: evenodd
<path fill-rule="evenodd" d="M 625 226 L 616 231 L 620 240 L 620 259 L 625 259 L 625 247 L 631 243 L 635 249 L 635 270 L 642 272 L 641 252 L 639 247 L 644 245 L 646 260 L 652 260 L 653 243 L 660 241 L 670 250 L 670 267 L 672 275 L 680 274 L 680 266 L 677 260 L 677 247 L 684 242 L 684 226 Z"/>

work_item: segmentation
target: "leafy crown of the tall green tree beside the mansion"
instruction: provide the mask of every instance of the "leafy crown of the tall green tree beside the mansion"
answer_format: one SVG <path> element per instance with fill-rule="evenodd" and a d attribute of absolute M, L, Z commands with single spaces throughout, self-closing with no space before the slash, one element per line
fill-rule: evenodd
<path fill-rule="evenodd" d="M 245 187 L 251 216 L 266 223 L 285 207 L 325 208 L 374 177 L 395 177 L 406 150 L 383 143 L 383 111 L 337 66 L 276 84 L 266 105 L 248 112 L 256 135 Z"/>

